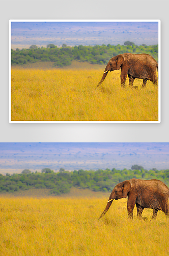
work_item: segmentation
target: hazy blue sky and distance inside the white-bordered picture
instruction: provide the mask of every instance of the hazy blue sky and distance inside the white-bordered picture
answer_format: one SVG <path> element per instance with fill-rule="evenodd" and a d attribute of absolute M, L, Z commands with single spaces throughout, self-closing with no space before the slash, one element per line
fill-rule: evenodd
<path fill-rule="evenodd" d="M 157 22 L 12 22 L 12 48 L 54 44 L 78 45 L 158 44 Z"/>

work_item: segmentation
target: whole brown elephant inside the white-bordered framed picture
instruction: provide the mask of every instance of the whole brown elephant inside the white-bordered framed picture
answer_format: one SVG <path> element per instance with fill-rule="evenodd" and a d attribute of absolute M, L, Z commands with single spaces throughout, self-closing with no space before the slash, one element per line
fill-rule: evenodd
<path fill-rule="evenodd" d="M 153 82 L 154 87 L 157 86 L 157 75 L 158 71 L 157 61 L 149 54 L 133 54 L 123 53 L 115 57 L 112 57 L 104 70 L 103 76 L 97 87 L 104 81 L 108 71 L 120 70 L 121 69 L 121 87 L 126 87 L 126 78 L 129 78 L 129 87 L 133 87 L 135 78 L 143 79 L 142 88 L 146 88 L 147 80 Z M 96 89 L 97 89 L 96 87 Z"/>

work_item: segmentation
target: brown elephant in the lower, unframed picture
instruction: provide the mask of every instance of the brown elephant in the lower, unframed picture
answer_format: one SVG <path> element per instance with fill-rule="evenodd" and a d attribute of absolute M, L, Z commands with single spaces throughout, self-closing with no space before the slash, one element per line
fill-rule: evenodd
<path fill-rule="evenodd" d="M 128 197 L 128 218 L 133 218 L 135 204 L 137 207 L 137 217 L 140 219 L 143 218 L 142 212 L 144 208 L 153 209 L 152 219 L 156 219 L 158 210 L 162 210 L 166 218 L 169 217 L 169 188 L 160 180 L 131 179 L 123 181 L 114 187 L 100 218 L 106 214 L 114 199 L 118 200 L 126 197 Z"/>

